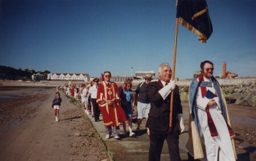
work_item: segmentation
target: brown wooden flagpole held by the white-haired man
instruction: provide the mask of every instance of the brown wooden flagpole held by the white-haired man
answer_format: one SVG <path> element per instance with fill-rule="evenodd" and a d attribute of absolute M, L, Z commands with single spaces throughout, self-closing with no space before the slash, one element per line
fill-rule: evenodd
<path fill-rule="evenodd" d="M 173 64 L 172 64 L 172 81 L 174 81 L 174 79 L 175 79 L 177 37 L 178 37 L 178 18 L 176 18 L 176 26 L 175 26 L 175 40 L 174 40 Z M 172 91 L 172 94 L 170 95 L 169 132 L 172 132 L 172 111 L 173 111 L 173 91 Z"/>

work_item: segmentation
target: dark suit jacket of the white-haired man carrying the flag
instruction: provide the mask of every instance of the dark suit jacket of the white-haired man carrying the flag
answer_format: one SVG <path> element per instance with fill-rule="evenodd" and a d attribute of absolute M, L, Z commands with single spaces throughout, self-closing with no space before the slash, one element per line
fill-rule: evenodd
<path fill-rule="evenodd" d="M 148 96 L 151 100 L 151 109 L 148 114 L 146 127 L 156 132 L 168 132 L 170 116 L 170 94 L 163 100 L 159 90 L 164 87 L 161 81 L 151 82 L 148 86 Z M 177 122 L 177 114 L 182 113 L 182 106 L 178 86 L 174 89 L 172 127 Z"/>

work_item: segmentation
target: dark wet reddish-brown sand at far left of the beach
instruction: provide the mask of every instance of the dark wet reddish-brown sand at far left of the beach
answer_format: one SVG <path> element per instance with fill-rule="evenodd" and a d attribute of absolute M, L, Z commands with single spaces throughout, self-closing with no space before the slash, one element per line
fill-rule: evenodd
<path fill-rule="evenodd" d="M 0 126 L 34 117 L 39 105 L 52 94 L 52 88 L 0 87 Z"/>

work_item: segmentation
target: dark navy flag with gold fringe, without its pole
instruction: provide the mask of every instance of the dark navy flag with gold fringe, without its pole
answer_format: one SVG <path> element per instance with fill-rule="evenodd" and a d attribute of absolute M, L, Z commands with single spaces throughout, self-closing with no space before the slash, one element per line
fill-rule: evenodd
<path fill-rule="evenodd" d="M 198 35 L 201 43 L 206 43 L 213 32 L 212 22 L 205 0 L 177 0 L 178 22 Z"/>

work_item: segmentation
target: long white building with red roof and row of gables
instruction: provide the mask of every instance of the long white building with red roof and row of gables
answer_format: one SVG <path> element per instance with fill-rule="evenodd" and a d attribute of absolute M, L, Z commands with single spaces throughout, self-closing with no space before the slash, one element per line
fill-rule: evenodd
<path fill-rule="evenodd" d="M 73 74 L 73 73 L 52 73 L 51 81 L 90 81 L 89 74 Z"/>

